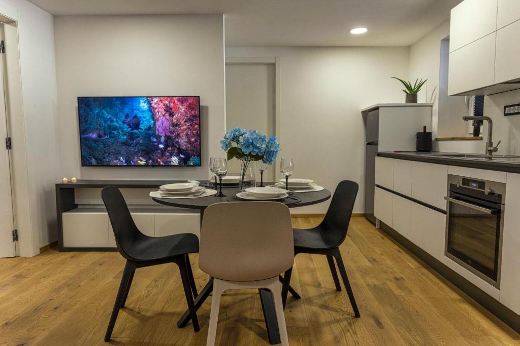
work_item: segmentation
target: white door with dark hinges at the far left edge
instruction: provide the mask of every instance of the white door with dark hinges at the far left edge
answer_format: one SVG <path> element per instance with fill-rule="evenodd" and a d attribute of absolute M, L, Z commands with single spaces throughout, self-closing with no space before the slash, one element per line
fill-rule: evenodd
<path fill-rule="evenodd" d="M 0 39 L 4 39 L 4 28 L 0 24 Z M 0 133 L 7 139 L 7 116 L 5 107 L 5 54 L 0 53 Z M 0 257 L 16 256 L 16 246 L 12 237 L 14 230 L 11 198 L 11 174 L 9 150 L 4 143 L 0 146 Z"/>

